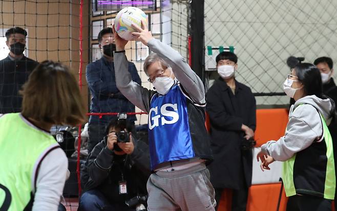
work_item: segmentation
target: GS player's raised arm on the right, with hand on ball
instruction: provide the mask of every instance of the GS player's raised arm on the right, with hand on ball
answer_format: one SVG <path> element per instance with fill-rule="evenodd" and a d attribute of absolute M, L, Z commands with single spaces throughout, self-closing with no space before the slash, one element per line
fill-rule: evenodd
<path fill-rule="evenodd" d="M 185 59 L 170 46 L 153 38 L 151 32 L 148 30 L 142 21 L 142 29 L 133 25 L 138 32 L 132 33 L 135 40 L 141 41 L 148 45 L 150 50 L 158 54 L 172 67 L 172 71 L 184 89 L 187 91 L 189 97 L 196 103 L 205 103 L 205 89 L 202 81 L 197 74 L 187 64 Z"/>

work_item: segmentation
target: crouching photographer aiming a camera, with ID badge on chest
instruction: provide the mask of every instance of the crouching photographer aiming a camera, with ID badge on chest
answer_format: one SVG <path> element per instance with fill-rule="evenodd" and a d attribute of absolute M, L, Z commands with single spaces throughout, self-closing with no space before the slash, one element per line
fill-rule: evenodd
<path fill-rule="evenodd" d="M 79 210 L 136 210 L 125 201 L 147 194 L 146 181 L 151 174 L 149 147 L 124 132 L 130 131 L 125 113 L 118 117 L 111 120 L 106 136 L 82 169 L 85 193 L 80 197 Z"/>

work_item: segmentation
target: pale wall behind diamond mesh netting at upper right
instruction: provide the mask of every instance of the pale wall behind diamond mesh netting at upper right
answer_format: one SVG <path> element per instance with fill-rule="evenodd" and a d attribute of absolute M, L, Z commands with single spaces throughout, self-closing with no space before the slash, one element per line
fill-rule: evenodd
<path fill-rule="evenodd" d="M 291 55 L 310 63 L 321 56 L 337 57 L 336 1 L 205 0 L 204 15 L 205 46 L 234 46 L 236 79 L 252 92 L 283 92 L 289 73 L 285 61 Z M 206 52 L 206 63 L 207 58 Z M 218 77 L 207 74 L 210 84 Z M 289 103 L 286 96 L 256 99 L 258 105 Z"/>

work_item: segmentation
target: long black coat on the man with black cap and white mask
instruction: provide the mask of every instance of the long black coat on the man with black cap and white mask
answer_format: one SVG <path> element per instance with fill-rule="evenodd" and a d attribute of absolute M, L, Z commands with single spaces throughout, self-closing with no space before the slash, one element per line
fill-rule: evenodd
<path fill-rule="evenodd" d="M 256 128 L 256 101 L 249 87 L 235 81 L 235 95 L 223 79 L 206 95 L 214 161 L 209 165 L 214 187 L 239 189 L 251 185 L 252 150 L 242 151 L 242 124 Z"/>

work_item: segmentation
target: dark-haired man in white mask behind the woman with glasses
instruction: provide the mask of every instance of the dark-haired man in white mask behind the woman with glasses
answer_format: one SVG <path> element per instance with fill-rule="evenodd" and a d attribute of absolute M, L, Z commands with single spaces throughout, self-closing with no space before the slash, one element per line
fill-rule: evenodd
<path fill-rule="evenodd" d="M 323 83 L 323 93 L 331 98 L 335 103 L 337 102 L 337 86 L 333 81 L 333 61 L 329 57 L 317 58 L 314 65 L 320 69 L 322 83 Z"/>

